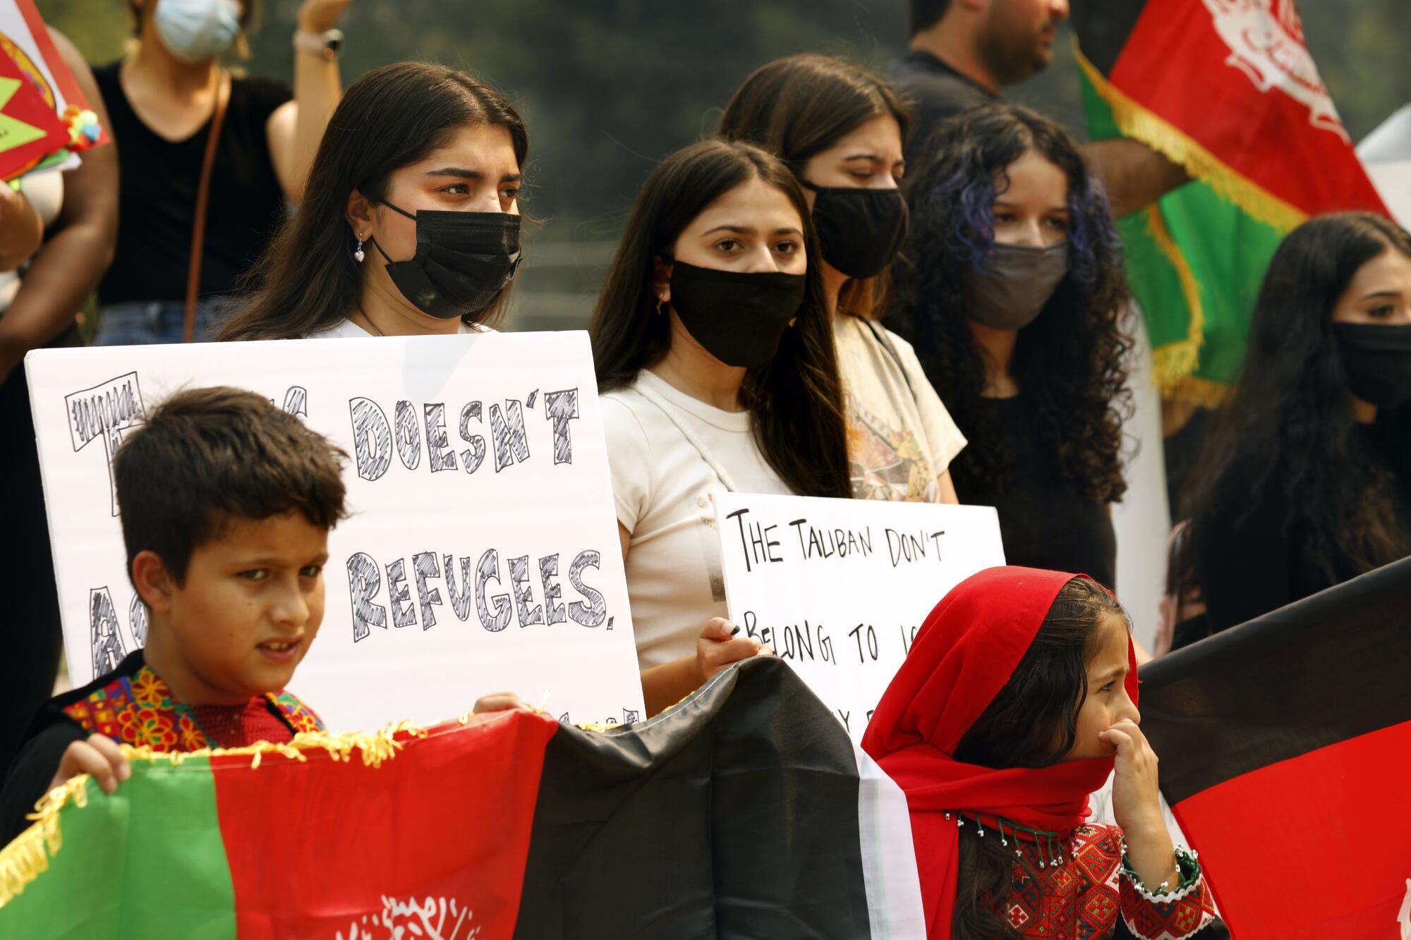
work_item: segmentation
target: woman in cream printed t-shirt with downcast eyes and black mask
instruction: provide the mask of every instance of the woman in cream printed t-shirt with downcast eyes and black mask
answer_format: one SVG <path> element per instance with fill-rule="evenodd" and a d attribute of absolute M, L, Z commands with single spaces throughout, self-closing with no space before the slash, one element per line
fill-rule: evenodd
<path fill-rule="evenodd" d="M 852 494 L 957 502 L 950 463 L 965 446 L 912 344 L 875 322 L 906 237 L 897 189 L 910 112 L 859 65 L 793 55 L 739 86 L 718 134 L 759 144 L 809 191 L 842 374 Z"/>

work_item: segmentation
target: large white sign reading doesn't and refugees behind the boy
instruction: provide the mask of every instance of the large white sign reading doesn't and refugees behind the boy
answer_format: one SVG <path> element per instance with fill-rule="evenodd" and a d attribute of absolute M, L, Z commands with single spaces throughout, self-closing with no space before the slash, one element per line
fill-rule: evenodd
<path fill-rule="evenodd" d="M 350 454 L 323 627 L 292 692 L 330 730 L 516 692 L 643 714 L 586 333 L 55 349 L 25 358 L 75 686 L 144 642 L 109 462 L 181 388 L 234 385 Z"/>

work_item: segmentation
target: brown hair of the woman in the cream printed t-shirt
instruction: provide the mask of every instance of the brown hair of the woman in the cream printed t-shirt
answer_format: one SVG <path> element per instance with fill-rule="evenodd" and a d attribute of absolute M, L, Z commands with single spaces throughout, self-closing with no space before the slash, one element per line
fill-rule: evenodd
<path fill-rule="evenodd" d="M 827 55 L 790 55 L 755 69 L 725 106 L 715 133 L 758 144 L 801 179 L 804 164 L 873 117 L 890 114 L 906 144 L 912 109 L 890 85 L 861 65 Z M 886 292 L 886 274 L 842 285 L 838 311 L 869 316 Z"/>

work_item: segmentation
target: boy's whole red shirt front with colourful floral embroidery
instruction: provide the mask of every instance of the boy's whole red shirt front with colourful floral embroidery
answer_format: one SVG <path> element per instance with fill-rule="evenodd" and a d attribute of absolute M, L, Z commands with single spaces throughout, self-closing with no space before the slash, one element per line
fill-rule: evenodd
<path fill-rule="evenodd" d="M 63 706 L 87 733 L 154 751 L 233 748 L 254 741 L 288 741 L 299 731 L 322 731 L 323 721 L 288 692 L 268 693 L 243 706 L 186 706 L 145 663 L 133 675 Z"/>

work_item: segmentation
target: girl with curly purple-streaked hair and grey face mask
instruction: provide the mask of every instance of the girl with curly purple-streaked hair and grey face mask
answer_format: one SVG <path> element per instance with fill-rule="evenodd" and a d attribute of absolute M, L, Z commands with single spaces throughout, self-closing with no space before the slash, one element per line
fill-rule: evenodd
<path fill-rule="evenodd" d="M 927 155 L 893 319 L 969 440 L 955 491 L 999 510 L 1010 565 L 1110 587 L 1132 340 L 1108 198 L 1068 133 L 1024 107 L 957 114 Z"/>

